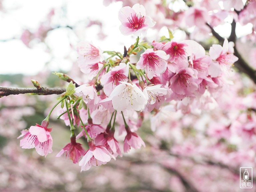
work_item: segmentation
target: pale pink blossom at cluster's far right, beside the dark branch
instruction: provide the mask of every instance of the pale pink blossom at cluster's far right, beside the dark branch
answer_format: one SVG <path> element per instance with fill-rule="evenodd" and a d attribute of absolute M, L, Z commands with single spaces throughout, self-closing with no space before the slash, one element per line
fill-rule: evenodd
<path fill-rule="evenodd" d="M 238 58 L 230 52 L 230 47 L 227 38 L 225 38 L 223 47 L 218 44 L 212 45 L 209 50 L 210 57 L 213 62 L 209 66 L 209 75 L 217 77 L 221 74 L 223 68 L 229 69 Z M 233 51 L 233 50 L 232 50 Z"/>

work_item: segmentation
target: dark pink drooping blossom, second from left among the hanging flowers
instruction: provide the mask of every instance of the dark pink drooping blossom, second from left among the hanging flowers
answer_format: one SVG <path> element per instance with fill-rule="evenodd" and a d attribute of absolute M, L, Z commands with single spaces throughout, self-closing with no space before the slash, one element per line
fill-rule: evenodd
<path fill-rule="evenodd" d="M 60 157 L 63 154 L 69 159 L 73 161 L 73 163 L 78 163 L 78 160 L 82 155 L 85 154 L 85 150 L 83 149 L 80 143 L 76 142 L 76 136 L 70 137 L 70 143 L 68 143 L 61 151 L 56 155 L 56 157 Z"/>

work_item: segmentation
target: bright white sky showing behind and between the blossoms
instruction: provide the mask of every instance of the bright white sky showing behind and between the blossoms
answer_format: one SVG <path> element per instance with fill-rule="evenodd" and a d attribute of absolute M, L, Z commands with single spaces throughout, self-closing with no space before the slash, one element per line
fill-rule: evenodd
<path fill-rule="evenodd" d="M 118 11 L 121 2 L 103 6 L 102 0 L 4 0 L 4 11 L 0 12 L 0 74 L 22 73 L 35 75 L 44 70 L 45 66 L 52 71 L 69 71 L 77 58 L 75 51 L 79 41 L 92 41 L 102 50 L 115 50 L 123 52 L 123 46 L 129 47 L 135 42 L 135 36 L 124 36 L 119 31 Z M 74 30 L 59 28 L 48 33 L 46 44 L 34 40 L 31 42 L 33 49 L 28 48 L 20 40 L 24 29 L 36 30 L 40 22 L 46 21 L 47 14 L 52 8 L 56 9 L 52 24 L 61 26 L 77 26 Z M 61 8 L 61 9 L 60 9 Z M 98 26 L 85 28 L 90 20 L 102 22 L 102 31 L 107 37 L 103 40 L 97 35 Z M 232 20 L 232 18 L 229 18 Z M 243 36 L 250 32 L 250 25 L 237 26 L 237 35 Z M 230 24 L 215 28 L 223 37 L 230 34 Z M 167 29 L 160 32 L 149 30 L 148 38 L 154 40 L 156 33 L 168 35 Z M 176 33 L 176 40 L 181 40 L 182 35 Z M 70 48 L 70 43 L 72 47 Z M 51 50 L 48 52 L 47 50 Z"/>

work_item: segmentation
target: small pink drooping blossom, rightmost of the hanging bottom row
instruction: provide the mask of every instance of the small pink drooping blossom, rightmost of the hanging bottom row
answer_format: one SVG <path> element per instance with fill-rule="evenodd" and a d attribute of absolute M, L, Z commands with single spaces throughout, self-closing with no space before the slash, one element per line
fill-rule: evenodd
<path fill-rule="evenodd" d="M 124 139 L 124 152 L 130 151 L 131 147 L 134 149 L 139 149 L 141 146 L 145 147 L 144 141 L 136 133 L 128 131 Z"/>

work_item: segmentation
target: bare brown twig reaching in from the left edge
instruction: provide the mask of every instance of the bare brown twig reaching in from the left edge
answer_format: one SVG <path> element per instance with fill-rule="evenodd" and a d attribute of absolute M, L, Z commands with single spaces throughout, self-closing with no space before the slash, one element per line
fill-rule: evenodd
<path fill-rule="evenodd" d="M 26 94 L 26 93 L 37 93 L 38 95 L 52 95 L 52 94 L 59 95 L 65 91 L 66 91 L 65 88 L 42 87 L 42 91 L 39 91 L 37 88 L 17 88 L 17 87 L 0 86 L 0 96 L 18 95 L 18 94 Z"/>

